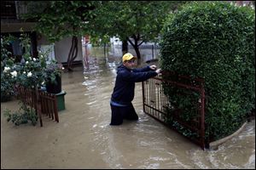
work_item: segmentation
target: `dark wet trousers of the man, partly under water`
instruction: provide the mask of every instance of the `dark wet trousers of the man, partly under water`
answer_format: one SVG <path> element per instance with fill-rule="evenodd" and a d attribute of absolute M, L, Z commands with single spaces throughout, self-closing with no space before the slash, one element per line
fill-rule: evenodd
<path fill-rule="evenodd" d="M 110 125 L 120 125 L 123 123 L 123 119 L 138 120 L 137 113 L 133 105 L 128 106 L 114 106 L 111 105 L 111 122 Z"/>

